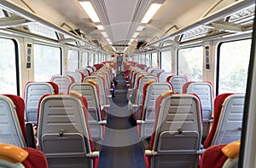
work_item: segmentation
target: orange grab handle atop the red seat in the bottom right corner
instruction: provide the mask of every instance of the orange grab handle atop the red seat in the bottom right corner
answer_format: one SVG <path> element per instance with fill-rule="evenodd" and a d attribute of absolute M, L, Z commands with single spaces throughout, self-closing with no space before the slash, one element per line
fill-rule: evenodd
<path fill-rule="evenodd" d="M 239 156 L 240 144 L 240 140 L 231 142 L 228 145 L 224 146 L 224 148 L 222 148 L 221 151 L 226 157 L 236 159 Z"/>

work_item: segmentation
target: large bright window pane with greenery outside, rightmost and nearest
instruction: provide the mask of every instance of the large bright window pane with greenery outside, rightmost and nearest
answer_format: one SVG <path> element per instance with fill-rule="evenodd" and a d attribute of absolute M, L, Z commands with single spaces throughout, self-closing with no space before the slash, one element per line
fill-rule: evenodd
<path fill-rule="evenodd" d="M 251 39 L 221 43 L 218 94 L 246 91 L 251 43 Z"/>

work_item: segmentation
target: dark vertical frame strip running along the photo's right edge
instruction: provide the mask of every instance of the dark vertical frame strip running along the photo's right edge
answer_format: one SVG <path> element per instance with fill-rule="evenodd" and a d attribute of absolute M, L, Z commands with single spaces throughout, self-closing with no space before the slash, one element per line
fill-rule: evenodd
<path fill-rule="evenodd" d="M 254 11 L 255 12 L 255 11 Z M 253 35 L 250 51 L 250 61 L 248 66 L 247 75 L 247 88 L 245 97 L 245 107 L 242 120 L 242 131 L 241 131 L 241 147 L 239 151 L 239 161 L 238 167 L 255 167 L 256 161 L 256 150 L 255 150 L 255 140 L 256 140 L 256 115 L 255 115 L 255 80 L 256 80 L 256 20 L 254 18 L 253 22 Z"/>

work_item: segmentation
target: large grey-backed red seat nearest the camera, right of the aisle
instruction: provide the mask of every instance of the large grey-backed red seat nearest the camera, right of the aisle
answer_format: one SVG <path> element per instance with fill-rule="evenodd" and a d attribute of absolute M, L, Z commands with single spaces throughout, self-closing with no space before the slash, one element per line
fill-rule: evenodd
<path fill-rule="evenodd" d="M 144 146 L 147 167 L 197 167 L 201 134 L 198 97 L 163 93 L 155 101 L 154 133 Z"/>

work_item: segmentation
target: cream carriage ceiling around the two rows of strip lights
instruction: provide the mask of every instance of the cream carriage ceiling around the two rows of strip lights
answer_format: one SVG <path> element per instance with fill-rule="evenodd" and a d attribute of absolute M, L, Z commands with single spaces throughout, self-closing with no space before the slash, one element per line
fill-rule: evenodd
<path fill-rule="evenodd" d="M 78 0 L 9 0 L 28 11 L 31 9 L 45 20 L 70 31 L 82 30 L 91 40 L 102 46 L 109 43 L 102 37 Z M 148 9 L 150 3 L 160 0 L 90 0 L 113 44 L 127 44 Z M 163 1 L 163 0 L 161 0 Z M 241 1 L 241 0 L 240 0 Z M 24 3 L 26 2 L 26 4 Z M 165 0 L 161 9 L 137 37 L 137 41 L 154 42 L 199 20 L 218 0 Z M 209 14 L 237 0 L 223 0 Z M 31 8 L 29 9 L 28 6 Z M 31 11 L 32 12 L 32 11 Z M 67 24 L 63 26 L 63 23 Z M 176 26 L 172 28 L 172 26 Z M 133 43 L 133 46 L 134 46 Z M 123 50 L 125 47 L 117 48 Z"/>

